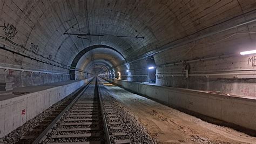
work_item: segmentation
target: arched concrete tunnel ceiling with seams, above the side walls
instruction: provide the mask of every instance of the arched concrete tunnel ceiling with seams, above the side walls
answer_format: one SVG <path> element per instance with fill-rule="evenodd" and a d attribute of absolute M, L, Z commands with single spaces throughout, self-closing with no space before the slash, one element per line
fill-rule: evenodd
<path fill-rule="evenodd" d="M 37 53 L 71 66 L 79 52 L 92 45 L 113 47 L 132 61 L 251 11 L 253 6 L 247 3 L 250 1 L 0 1 L 0 23 L 15 26 L 18 32 L 12 42 L 24 47 L 35 45 Z M 78 38 L 64 33 L 104 36 Z M 1 40 L 6 46 L 15 47 Z M 106 67 L 117 66 L 124 60 L 107 50 L 93 50 L 86 54 L 88 57 L 117 59 L 109 64 L 97 62 Z M 79 60 L 84 62 L 79 64 L 81 69 L 93 63 L 85 57 Z"/>

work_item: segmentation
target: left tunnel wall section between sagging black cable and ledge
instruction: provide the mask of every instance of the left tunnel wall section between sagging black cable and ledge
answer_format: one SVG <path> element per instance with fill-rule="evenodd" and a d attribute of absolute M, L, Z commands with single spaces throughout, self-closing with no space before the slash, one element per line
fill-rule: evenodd
<path fill-rule="evenodd" d="M 10 68 L 6 69 L 0 67 L 0 82 L 12 82 L 14 83 L 13 88 L 43 85 L 69 80 L 69 75 L 65 73 L 68 71 L 63 68 L 39 63 L 38 61 L 24 58 L 19 54 L 2 49 L 0 49 L 0 66 Z M 12 68 L 18 68 L 19 70 L 12 70 Z"/>

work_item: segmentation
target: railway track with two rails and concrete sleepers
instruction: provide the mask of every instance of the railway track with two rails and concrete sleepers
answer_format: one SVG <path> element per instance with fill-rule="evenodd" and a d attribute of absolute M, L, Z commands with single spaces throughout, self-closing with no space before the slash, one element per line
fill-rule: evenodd
<path fill-rule="evenodd" d="M 33 143 L 131 143 L 124 126 L 96 78 Z"/>

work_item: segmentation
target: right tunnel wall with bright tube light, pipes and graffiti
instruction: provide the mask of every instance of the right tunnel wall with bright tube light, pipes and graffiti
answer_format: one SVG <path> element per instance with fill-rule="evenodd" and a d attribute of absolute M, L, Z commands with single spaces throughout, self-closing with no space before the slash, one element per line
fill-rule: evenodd
<path fill-rule="evenodd" d="M 255 18 L 255 13 L 247 17 Z M 243 17 L 238 18 L 234 23 L 241 23 L 242 20 Z M 227 22 L 231 23 L 233 22 Z M 156 83 L 170 87 L 256 97 L 256 55 L 239 54 L 255 49 L 255 26 L 255 22 L 248 23 L 155 54 L 158 75 Z M 225 27 L 226 25 L 219 26 L 212 31 L 219 31 Z M 186 66 L 190 69 L 188 78 Z"/>

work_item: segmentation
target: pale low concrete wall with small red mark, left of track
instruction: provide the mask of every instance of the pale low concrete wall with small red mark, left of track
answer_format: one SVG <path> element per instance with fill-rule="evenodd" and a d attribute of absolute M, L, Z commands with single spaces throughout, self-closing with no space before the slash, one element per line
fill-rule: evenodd
<path fill-rule="evenodd" d="M 0 138 L 62 100 L 92 78 L 0 101 Z"/>

